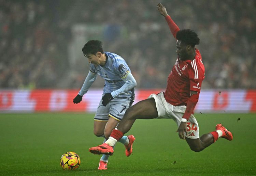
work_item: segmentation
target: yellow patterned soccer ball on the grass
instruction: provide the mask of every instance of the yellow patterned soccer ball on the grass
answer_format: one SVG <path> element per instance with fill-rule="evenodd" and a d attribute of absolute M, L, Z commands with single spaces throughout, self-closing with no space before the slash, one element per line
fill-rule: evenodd
<path fill-rule="evenodd" d="M 80 157 L 72 151 L 66 152 L 60 158 L 60 166 L 63 170 L 76 170 L 80 162 Z"/>

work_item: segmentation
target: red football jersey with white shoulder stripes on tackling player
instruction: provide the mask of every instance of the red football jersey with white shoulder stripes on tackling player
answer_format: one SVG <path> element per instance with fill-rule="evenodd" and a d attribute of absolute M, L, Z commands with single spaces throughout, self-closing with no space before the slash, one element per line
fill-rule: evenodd
<path fill-rule="evenodd" d="M 198 49 L 193 61 L 182 61 L 178 57 L 167 79 L 165 99 L 173 106 L 187 105 L 190 91 L 200 93 L 204 79 L 204 65 Z"/>

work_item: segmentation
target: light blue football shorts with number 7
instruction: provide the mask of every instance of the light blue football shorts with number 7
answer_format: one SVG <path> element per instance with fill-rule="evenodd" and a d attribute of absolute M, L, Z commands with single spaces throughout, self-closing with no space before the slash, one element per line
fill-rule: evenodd
<path fill-rule="evenodd" d="M 104 94 L 102 95 L 102 97 Z M 106 106 L 103 106 L 102 99 L 100 99 L 94 120 L 100 122 L 107 122 L 109 117 L 121 121 L 125 115 L 125 111 L 132 105 L 133 100 L 130 97 L 114 98 Z"/>

